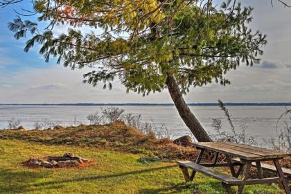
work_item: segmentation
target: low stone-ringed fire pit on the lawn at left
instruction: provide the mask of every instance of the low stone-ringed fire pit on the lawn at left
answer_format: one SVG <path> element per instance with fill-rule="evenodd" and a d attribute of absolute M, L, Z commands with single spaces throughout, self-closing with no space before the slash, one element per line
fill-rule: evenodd
<path fill-rule="evenodd" d="M 67 168 L 67 167 L 85 167 L 92 164 L 88 159 L 82 157 L 75 157 L 72 152 L 65 153 L 62 156 L 44 157 L 37 159 L 31 157 L 28 161 L 23 163 L 24 166 L 30 168 L 44 167 L 44 168 Z"/>

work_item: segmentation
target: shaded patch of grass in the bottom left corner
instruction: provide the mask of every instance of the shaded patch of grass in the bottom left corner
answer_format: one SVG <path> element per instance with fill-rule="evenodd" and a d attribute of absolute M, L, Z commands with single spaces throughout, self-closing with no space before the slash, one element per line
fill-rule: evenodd
<path fill-rule="evenodd" d="M 24 193 L 37 179 L 47 177 L 49 172 L 33 172 L 28 170 L 1 169 L 0 193 Z"/>

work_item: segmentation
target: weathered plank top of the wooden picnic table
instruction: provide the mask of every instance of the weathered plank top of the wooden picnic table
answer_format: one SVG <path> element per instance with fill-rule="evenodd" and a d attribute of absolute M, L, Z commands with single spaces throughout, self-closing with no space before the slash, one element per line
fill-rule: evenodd
<path fill-rule="evenodd" d="M 290 157 L 290 153 L 279 150 L 267 150 L 265 148 L 256 148 L 249 145 L 243 145 L 231 142 L 199 142 L 194 143 L 196 148 L 220 152 L 222 154 L 239 157 L 249 161 L 264 160 L 264 159 L 280 159 L 283 157 Z"/>

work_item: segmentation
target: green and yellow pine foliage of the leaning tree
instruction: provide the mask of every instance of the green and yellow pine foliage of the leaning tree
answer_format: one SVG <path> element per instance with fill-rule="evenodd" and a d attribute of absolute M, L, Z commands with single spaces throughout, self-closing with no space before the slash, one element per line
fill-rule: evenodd
<path fill-rule="evenodd" d="M 235 2 L 234 2 L 235 3 Z M 46 62 L 58 57 L 65 67 L 92 67 L 84 82 L 121 80 L 127 91 L 143 95 L 162 91 L 168 75 L 175 76 L 187 92 L 213 81 L 229 84 L 227 71 L 240 63 L 258 63 L 266 36 L 249 28 L 252 8 L 240 3 L 193 1 L 36 1 L 39 21 L 69 24 L 67 34 L 54 36 L 51 30 L 37 31 L 37 24 L 20 18 L 9 24 L 15 37 L 33 34 L 24 51 L 35 43 Z M 91 33 L 76 30 L 87 26 Z M 95 30 L 95 31 L 94 31 Z M 102 31 L 102 33 L 96 33 Z"/>

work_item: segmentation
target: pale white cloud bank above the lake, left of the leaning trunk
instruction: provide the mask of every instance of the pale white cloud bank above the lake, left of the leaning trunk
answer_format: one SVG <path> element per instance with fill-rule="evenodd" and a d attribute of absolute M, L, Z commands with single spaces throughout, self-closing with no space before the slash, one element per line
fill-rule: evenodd
<path fill-rule="evenodd" d="M 130 92 L 116 80 L 113 89 L 102 89 L 82 83 L 84 73 L 91 69 L 76 69 L 56 66 L 50 69 L 33 69 L 17 72 L 9 78 L 11 87 L 1 89 L 1 103 L 140 103 L 171 102 L 167 93 L 143 97 Z M 37 85 L 35 85 L 37 83 Z M 20 97 L 21 96 L 21 97 Z"/>

